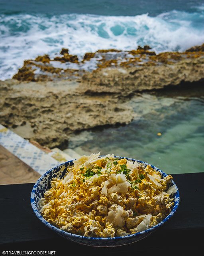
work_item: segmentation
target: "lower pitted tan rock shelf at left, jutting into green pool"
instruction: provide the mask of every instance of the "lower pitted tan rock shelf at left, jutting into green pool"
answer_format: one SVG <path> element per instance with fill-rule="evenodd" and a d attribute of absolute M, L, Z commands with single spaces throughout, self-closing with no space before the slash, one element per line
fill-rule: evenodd
<path fill-rule="evenodd" d="M 133 110 L 114 96 L 87 96 L 81 83 L 0 82 L 0 123 L 49 148 L 66 148 L 69 136 L 96 126 L 127 124 Z M 32 128 L 32 131 L 30 130 Z M 24 137 L 25 137 L 24 136 Z"/>

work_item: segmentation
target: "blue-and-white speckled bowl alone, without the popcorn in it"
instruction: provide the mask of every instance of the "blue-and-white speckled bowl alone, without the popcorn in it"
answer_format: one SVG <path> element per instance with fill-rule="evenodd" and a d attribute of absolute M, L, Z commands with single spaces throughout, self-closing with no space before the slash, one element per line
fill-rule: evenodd
<path fill-rule="evenodd" d="M 125 157 L 120 157 L 120 156 L 116 156 L 116 157 L 120 158 L 120 159 L 125 158 Z M 139 163 L 143 163 L 144 166 L 147 166 L 147 163 L 145 163 L 145 162 L 131 159 L 131 158 L 126 158 L 126 159 L 134 161 L 134 162 L 137 161 Z M 39 211 L 40 207 L 38 205 L 38 202 L 39 202 L 40 198 L 43 197 L 44 192 L 47 189 L 51 188 L 52 178 L 55 178 L 55 177 L 63 178 L 63 176 L 65 175 L 67 166 L 72 166 L 72 165 L 73 165 L 73 160 L 65 162 L 63 164 L 59 164 L 58 166 L 45 172 L 45 174 L 43 174 L 39 178 L 39 180 L 37 180 L 35 185 L 33 186 L 33 190 L 31 192 L 31 206 L 32 206 L 33 211 L 36 214 L 37 218 L 39 218 L 39 220 L 41 220 L 41 222 L 43 222 L 43 224 L 45 224 L 48 228 L 51 228 L 53 231 L 57 232 L 57 234 L 63 236 L 64 238 L 70 239 L 79 244 L 86 244 L 89 246 L 109 247 L 109 246 L 121 246 L 121 245 L 137 242 L 138 240 L 141 240 L 141 239 L 145 238 L 146 236 L 149 236 L 149 234 L 151 234 L 153 231 L 157 230 L 157 228 L 159 228 L 165 222 L 167 222 L 171 218 L 171 216 L 173 216 L 173 214 L 175 214 L 175 212 L 179 206 L 179 190 L 177 190 L 177 192 L 175 194 L 173 194 L 175 205 L 173 206 L 169 215 L 164 220 L 162 220 L 159 224 L 153 226 L 152 228 L 148 228 L 147 230 L 144 230 L 142 232 L 137 232 L 135 234 L 128 235 L 128 236 L 119 236 L 119 237 L 113 237 L 113 238 L 95 238 L 95 237 L 79 236 L 76 234 L 71 234 L 69 232 L 63 231 L 60 228 L 57 228 L 57 227 L 53 226 L 52 224 L 50 224 L 49 222 L 47 222 L 47 220 L 45 220 L 41 216 L 41 213 Z M 163 177 L 167 176 L 167 174 L 165 174 L 163 171 L 159 170 L 155 166 L 151 165 L 151 167 L 154 170 L 159 171 Z M 175 184 L 175 183 L 172 181 L 172 185 L 173 184 Z"/>

